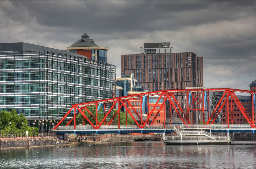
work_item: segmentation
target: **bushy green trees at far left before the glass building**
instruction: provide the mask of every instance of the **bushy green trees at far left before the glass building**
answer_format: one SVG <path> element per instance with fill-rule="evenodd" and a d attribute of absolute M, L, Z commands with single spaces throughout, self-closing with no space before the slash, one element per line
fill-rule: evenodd
<path fill-rule="evenodd" d="M 9 125 L 9 122 L 12 124 Z M 22 125 L 22 122 L 24 123 Z M 20 115 L 13 109 L 12 111 L 2 111 L 1 112 L 1 130 L 16 130 L 29 128 L 26 124 L 28 121 L 25 116 L 21 113 Z"/>

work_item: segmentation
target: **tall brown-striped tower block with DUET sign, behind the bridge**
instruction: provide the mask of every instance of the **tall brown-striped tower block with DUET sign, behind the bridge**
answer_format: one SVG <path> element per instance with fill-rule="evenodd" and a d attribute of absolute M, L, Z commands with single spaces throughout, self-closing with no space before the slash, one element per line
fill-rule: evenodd
<path fill-rule="evenodd" d="M 133 73 L 138 85 L 150 92 L 203 86 L 203 57 L 193 52 L 173 52 L 170 42 L 144 43 L 140 54 L 121 55 L 121 62 L 122 73 Z M 184 108 L 185 96 L 176 95 L 176 99 Z"/>

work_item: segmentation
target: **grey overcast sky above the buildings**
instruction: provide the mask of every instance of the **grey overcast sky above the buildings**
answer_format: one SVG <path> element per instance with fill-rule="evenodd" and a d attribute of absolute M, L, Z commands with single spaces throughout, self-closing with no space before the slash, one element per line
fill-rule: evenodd
<path fill-rule="evenodd" d="M 121 55 L 144 42 L 204 57 L 204 87 L 249 90 L 255 80 L 255 1 L 1 1 L 1 43 L 66 50 L 87 33 Z"/>

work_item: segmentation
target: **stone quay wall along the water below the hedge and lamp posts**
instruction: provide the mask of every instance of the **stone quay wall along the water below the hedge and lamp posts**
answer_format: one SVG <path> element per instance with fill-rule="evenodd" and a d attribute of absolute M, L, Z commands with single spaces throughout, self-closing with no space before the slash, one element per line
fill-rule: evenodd
<path fill-rule="evenodd" d="M 77 144 L 76 142 L 68 142 L 59 140 L 55 137 L 45 138 L 17 138 L 17 139 L 1 139 L 1 149 L 5 148 L 26 148 L 26 147 L 43 147 L 55 145 L 70 145 Z"/>

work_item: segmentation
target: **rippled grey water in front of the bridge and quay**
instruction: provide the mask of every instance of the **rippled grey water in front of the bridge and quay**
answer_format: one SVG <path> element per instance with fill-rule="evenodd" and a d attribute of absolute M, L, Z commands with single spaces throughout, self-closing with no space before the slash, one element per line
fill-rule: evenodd
<path fill-rule="evenodd" d="M 1 168 L 255 168 L 254 145 L 161 141 L 1 150 Z"/>

